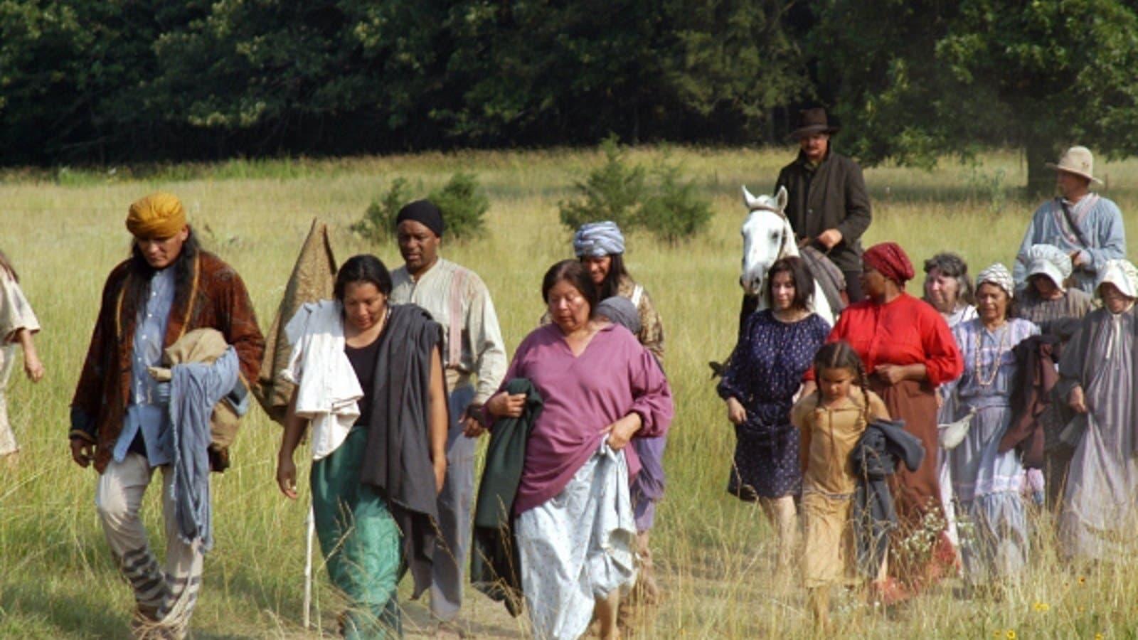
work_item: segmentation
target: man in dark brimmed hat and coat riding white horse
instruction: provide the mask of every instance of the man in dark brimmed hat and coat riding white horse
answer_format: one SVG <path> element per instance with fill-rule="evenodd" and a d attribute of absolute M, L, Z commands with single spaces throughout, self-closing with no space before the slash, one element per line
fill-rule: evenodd
<path fill-rule="evenodd" d="M 869 195 L 861 167 L 830 149 L 838 131 L 823 108 L 803 109 L 791 133 L 800 151 L 794 162 L 778 172 L 775 192 L 785 187 L 790 199 L 786 218 L 800 246 L 810 245 L 826 254 L 846 276 L 849 302 L 863 298 L 861 233 L 869 227 Z"/>

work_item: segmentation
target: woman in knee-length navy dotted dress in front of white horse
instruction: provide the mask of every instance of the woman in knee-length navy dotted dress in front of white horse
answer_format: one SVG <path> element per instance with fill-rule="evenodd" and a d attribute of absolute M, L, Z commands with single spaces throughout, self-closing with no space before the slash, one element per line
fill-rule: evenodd
<path fill-rule="evenodd" d="M 814 279 L 801 260 L 780 260 L 767 277 L 768 309 L 747 319 L 718 391 L 735 425 L 727 491 L 762 506 L 778 535 L 778 574 L 785 575 L 794 550 L 794 495 L 802 483 L 790 409 L 830 325 L 810 311 Z"/>

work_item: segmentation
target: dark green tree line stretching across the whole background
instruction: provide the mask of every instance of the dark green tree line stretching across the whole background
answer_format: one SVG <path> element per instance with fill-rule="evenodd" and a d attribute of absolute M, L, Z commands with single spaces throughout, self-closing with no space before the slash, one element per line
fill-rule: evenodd
<path fill-rule="evenodd" d="M 3 0 L 2 163 L 770 143 L 867 164 L 1125 155 L 1124 0 Z"/>

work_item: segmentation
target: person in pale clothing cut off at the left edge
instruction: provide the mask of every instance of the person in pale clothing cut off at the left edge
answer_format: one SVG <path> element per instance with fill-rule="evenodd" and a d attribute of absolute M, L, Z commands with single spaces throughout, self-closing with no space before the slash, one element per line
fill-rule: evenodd
<path fill-rule="evenodd" d="M 16 361 L 17 344 L 24 348 L 24 372 L 27 377 L 33 383 L 43 377 L 43 364 L 32 339 L 39 330 L 40 322 L 19 288 L 16 270 L 0 252 L 0 459 L 9 466 L 15 463 L 19 446 L 8 422 L 8 377 Z"/>

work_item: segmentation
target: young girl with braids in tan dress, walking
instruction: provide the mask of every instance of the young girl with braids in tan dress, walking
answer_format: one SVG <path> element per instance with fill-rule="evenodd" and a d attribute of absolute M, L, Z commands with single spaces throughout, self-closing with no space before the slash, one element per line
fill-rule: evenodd
<path fill-rule="evenodd" d="M 830 624 L 830 588 L 857 581 L 850 509 L 857 489 L 850 451 L 866 425 L 889 419 L 880 397 L 866 387 L 861 359 L 848 343 L 823 346 L 814 358 L 817 391 L 791 409 L 801 432 L 802 501 L 806 544 L 802 581 L 815 623 Z"/>

